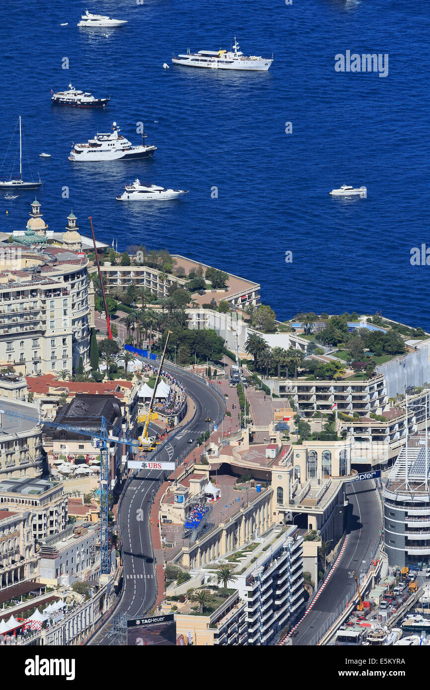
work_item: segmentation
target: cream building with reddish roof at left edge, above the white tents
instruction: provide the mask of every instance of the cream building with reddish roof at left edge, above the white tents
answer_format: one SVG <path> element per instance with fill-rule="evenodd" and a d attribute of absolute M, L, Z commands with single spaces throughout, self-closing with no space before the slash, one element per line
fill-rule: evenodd
<path fill-rule="evenodd" d="M 0 591 L 35 578 L 38 560 L 30 512 L 0 509 Z"/>

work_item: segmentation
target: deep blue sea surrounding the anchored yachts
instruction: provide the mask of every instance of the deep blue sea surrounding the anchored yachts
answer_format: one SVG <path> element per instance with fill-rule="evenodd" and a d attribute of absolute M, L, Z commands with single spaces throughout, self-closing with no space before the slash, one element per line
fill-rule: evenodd
<path fill-rule="evenodd" d="M 77 28 L 86 8 L 128 23 Z M 381 311 L 430 330 L 430 267 L 410 263 L 412 247 L 430 246 L 429 34 L 422 0 L 3 0 L 1 152 L 21 115 L 50 229 L 72 209 L 88 235 L 92 215 L 97 238 L 121 250 L 167 248 L 260 282 L 281 319 Z M 271 69 L 162 69 L 172 52 L 230 48 L 234 36 L 245 55 L 273 53 Z M 388 54 L 389 74 L 336 72 L 346 50 Z M 110 95 L 108 108 L 52 106 L 51 88 L 69 82 Z M 72 141 L 114 120 L 132 143 L 144 122 L 154 158 L 68 160 Z M 135 177 L 190 193 L 115 201 Z M 342 184 L 367 186 L 367 199 L 330 197 Z M 31 201 L 0 195 L 0 229 L 24 228 Z"/>

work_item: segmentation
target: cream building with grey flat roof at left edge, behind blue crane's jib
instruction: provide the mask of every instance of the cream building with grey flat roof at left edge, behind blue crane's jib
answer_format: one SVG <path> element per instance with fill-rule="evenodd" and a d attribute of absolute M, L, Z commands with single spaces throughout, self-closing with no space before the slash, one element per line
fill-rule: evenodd
<path fill-rule="evenodd" d="M 25 400 L 0 397 L 0 410 L 0 482 L 39 477 L 43 461 L 40 424 L 8 416 L 9 411 L 38 419 L 38 408 Z"/>

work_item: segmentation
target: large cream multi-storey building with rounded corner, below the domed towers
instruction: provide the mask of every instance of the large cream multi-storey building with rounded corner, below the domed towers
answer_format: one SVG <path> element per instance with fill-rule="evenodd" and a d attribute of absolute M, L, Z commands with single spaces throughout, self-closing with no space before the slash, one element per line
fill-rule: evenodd
<path fill-rule="evenodd" d="M 75 371 L 80 357 L 89 366 L 94 300 L 87 257 L 18 246 L 10 262 L 7 246 L 1 248 L 0 364 L 23 374 Z"/>

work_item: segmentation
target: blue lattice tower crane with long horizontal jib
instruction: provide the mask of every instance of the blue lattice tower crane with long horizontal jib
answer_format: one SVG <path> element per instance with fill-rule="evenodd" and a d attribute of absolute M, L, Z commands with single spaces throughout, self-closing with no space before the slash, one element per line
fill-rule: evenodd
<path fill-rule="evenodd" d="M 91 431 L 88 428 L 80 428 L 78 426 L 70 426 L 70 424 L 60 424 L 53 420 L 42 420 L 39 417 L 32 417 L 32 415 L 25 415 L 12 410 L 0 409 L 1 415 L 7 415 L 10 419 L 28 420 L 28 422 L 36 422 L 36 424 L 51 426 L 52 428 L 61 429 L 62 431 L 72 431 L 83 436 L 89 436 L 92 441 L 93 448 L 100 451 L 100 574 L 107 575 L 109 573 L 109 533 L 108 533 L 108 485 L 109 485 L 109 458 L 108 458 L 108 443 L 121 443 L 126 446 L 135 447 L 139 449 L 139 444 L 135 443 L 133 439 L 123 434 L 121 429 L 118 429 L 114 424 L 111 424 L 106 417 L 101 417 L 100 433 Z M 116 436 L 109 435 L 109 427 L 117 433 Z"/>

